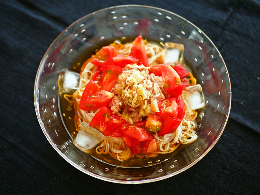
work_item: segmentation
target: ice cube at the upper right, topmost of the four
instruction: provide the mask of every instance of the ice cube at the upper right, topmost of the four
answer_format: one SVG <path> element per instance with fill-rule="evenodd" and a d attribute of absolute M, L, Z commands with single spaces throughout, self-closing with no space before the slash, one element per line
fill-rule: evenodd
<path fill-rule="evenodd" d="M 183 59 L 184 45 L 172 42 L 166 42 L 163 50 L 163 61 L 171 65 L 180 64 Z"/>

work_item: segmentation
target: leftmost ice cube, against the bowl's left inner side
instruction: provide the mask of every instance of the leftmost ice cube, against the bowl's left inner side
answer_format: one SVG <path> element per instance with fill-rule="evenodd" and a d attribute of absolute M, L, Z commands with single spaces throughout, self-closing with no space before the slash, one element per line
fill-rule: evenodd
<path fill-rule="evenodd" d="M 79 74 L 70 70 L 63 70 L 60 72 L 58 84 L 60 94 L 73 93 L 79 86 Z"/>

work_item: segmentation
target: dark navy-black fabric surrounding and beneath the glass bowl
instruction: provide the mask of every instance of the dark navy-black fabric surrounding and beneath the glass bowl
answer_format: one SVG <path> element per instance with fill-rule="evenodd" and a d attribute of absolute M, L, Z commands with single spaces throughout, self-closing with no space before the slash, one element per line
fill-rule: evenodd
<path fill-rule="evenodd" d="M 175 12 L 216 44 L 229 70 L 232 106 L 224 133 L 197 164 L 169 179 L 109 183 L 67 163 L 45 138 L 34 110 L 39 63 L 77 19 L 114 5 Z M 0 194 L 260 194 L 260 1 L 0 0 Z"/>

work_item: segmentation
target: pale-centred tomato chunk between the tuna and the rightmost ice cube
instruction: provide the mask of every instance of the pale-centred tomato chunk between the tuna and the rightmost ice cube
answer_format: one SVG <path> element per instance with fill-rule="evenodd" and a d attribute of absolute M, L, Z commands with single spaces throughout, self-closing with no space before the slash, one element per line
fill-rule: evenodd
<path fill-rule="evenodd" d="M 158 102 L 158 108 L 161 117 L 163 114 L 168 114 L 170 116 L 176 117 L 178 114 L 178 105 L 176 103 L 176 98 L 168 98 Z"/>

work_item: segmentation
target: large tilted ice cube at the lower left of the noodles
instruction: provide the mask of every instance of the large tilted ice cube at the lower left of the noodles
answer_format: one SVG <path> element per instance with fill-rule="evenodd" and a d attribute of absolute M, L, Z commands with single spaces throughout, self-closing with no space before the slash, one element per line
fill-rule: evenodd
<path fill-rule="evenodd" d="M 90 127 L 88 123 L 83 122 L 79 128 L 74 144 L 77 148 L 84 152 L 94 148 L 97 144 L 104 140 L 105 136 L 98 130 Z"/>

